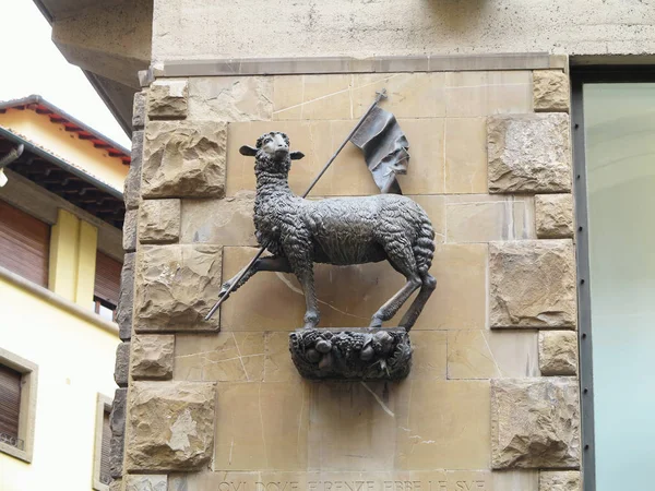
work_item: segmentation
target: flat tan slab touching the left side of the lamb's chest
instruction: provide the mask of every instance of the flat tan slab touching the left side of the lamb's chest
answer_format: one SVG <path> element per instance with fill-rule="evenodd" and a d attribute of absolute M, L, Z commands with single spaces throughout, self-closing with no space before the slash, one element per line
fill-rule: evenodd
<path fill-rule="evenodd" d="M 180 242 L 258 246 L 253 206 L 252 191 L 223 200 L 182 200 Z"/>

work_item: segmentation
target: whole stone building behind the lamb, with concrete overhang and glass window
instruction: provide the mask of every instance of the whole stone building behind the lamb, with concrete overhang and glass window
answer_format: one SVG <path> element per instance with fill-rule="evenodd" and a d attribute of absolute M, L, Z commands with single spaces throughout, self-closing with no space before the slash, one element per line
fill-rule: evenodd
<path fill-rule="evenodd" d="M 116 490 L 651 486 L 650 2 L 35 1 L 132 131 Z M 203 320 L 255 253 L 238 149 L 286 132 L 302 192 L 382 88 L 438 286 L 406 381 L 309 382 L 287 352 L 294 277 L 259 274 Z M 376 192 L 348 145 L 312 195 Z M 403 282 L 315 276 L 334 327 L 367 325 Z"/>

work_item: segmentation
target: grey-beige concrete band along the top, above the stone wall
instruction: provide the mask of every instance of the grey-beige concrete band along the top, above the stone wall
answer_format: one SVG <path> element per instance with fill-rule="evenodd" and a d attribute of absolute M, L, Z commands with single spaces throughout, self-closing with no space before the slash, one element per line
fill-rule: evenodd
<path fill-rule="evenodd" d="M 655 52 L 626 0 L 155 0 L 153 62 L 229 58 Z"/>

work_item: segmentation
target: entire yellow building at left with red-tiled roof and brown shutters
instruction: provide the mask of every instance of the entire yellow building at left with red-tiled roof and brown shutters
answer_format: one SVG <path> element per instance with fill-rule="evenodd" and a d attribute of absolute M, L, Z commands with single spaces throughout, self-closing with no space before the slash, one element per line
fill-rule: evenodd
<path fill-rule="evenodd" d="M 0 489 L 107 490 L 130 155 L 39 96 L 0 103 L 8 155 Z"/>

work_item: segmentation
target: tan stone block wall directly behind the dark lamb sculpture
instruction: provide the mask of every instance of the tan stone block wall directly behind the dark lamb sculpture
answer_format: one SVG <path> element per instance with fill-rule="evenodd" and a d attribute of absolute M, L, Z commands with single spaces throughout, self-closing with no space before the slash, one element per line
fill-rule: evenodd
<path fill-rule="evenodd" d="M 410 144 L 400 183 L 437 233 L 438 286 L 407 380 L 309 382 L 287 347 L 305 312 L 291 275 L 261 273 L 202 320 L 257 251 L 238 148 L 285 131 L 307 155 L 290 172 L 301 193 L 382 87 Z M 164 79 L 140 94 L 114 487 L 577 489 L 568 91 L 562 72 L 525 70 Z M 312 196 L 376 192 L 348 145 Z M 386 263 L 315 276 L 325 327 L 368 325 L 403 285 Z"/>

